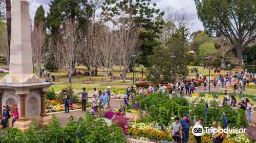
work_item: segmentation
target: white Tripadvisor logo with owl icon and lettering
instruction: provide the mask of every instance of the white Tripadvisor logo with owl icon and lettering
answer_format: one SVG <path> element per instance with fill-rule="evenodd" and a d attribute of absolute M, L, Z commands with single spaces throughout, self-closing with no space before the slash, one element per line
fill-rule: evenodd
<path fill-rule="evenodd" d="M 204 132 L 213 134 L 213 133 L 245 133 L 246 129 L 236 129 L 236 128 L 226 128 L 226 129 L 216 129 L 216 128 L 212 128 L 212 127 L 202 127 L 201 125 L 195 125 L 192 128 L 192 133 L 195 136 L 201 136 Z"/>

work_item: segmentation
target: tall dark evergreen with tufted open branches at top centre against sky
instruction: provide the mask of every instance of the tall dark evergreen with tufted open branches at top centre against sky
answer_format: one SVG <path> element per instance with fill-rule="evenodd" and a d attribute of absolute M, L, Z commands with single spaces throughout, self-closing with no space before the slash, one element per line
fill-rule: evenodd
<path fill-rule="evenodd" d="M 125 12 L 134 18 L 134 25 L 140 27 L 140 39 L 143 43 L 140 46 L 139 63 L 148 66 L 148 55 L 152 55 L 153 47 L 160 44 L 156 39 L 159 38 L 164 21 L 162 16 L 164 12 L 155 9 L 156 3 L 151 0 L 105 0 L 102 6 L 102 14 L 107 15 L 106 21 L 113 16 L 121 15 Z"/>

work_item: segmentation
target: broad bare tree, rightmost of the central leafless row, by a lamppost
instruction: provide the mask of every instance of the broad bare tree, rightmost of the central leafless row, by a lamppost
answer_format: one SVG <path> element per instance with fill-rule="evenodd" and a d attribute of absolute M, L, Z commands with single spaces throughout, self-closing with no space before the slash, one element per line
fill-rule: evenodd
<path fill-rule="evenodd" d="M 132 63 L 132 53 L 138 51 L 141 42 L 131 17 L 122 16 L 119 22 L 116 30 L 117 65 L 123 73 L 123 82 L 125 82 L 126 71 Z"/>

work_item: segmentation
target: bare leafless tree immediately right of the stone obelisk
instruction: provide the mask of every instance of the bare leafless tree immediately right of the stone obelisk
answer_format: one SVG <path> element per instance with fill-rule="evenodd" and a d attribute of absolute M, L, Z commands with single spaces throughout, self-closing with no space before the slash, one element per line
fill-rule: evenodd
<path fill-rule="evenodd" d="M 35 62 L 37 75 L 40 76 L 41 61 L 47 53 L 47 34 L 45 26 L 38 22 L 31 33 L 31 45 L 33 53 L 33 61 Z"/>

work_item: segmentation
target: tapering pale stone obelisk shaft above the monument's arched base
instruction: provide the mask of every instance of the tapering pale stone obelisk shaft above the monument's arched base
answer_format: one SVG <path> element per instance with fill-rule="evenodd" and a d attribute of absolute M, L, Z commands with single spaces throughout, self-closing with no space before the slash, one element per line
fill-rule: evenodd
<path fill-rule="evenodd" d="M 0 83 L 37 82 L 44 81 L 33 74 L 29 4 L 26 0 L 13 0 L 9 75 Z"/>

